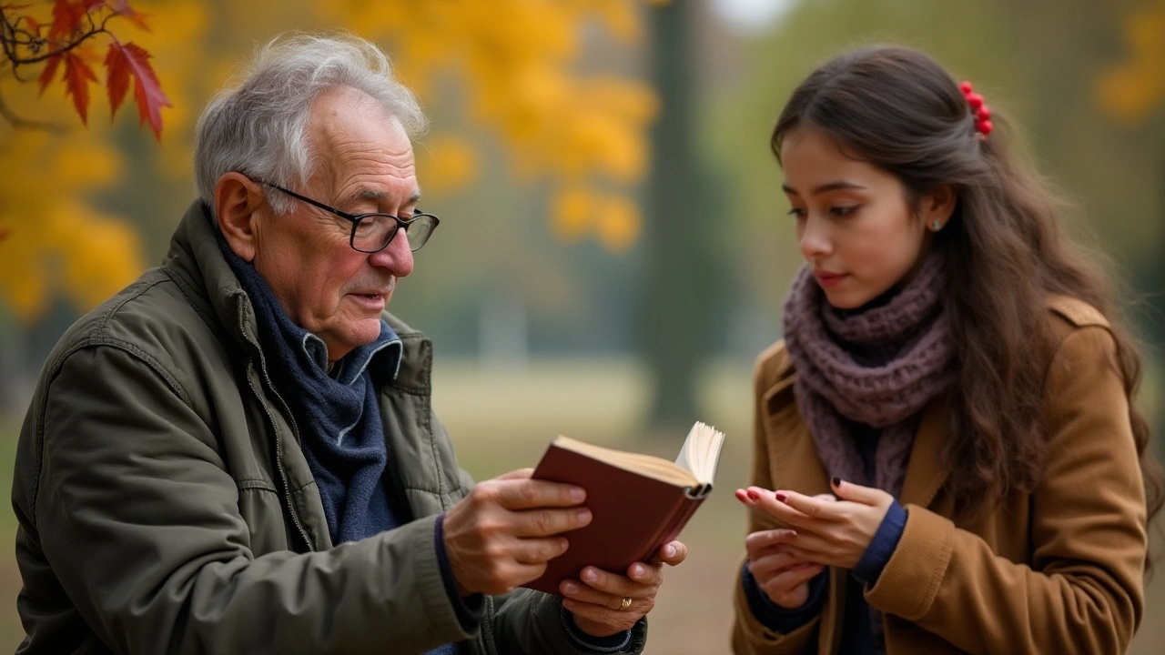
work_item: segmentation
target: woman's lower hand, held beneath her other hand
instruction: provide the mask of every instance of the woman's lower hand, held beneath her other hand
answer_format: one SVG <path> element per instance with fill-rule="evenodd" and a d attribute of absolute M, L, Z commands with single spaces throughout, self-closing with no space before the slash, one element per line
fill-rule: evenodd
<path fill-rule="evenodd" d="M 824 502 L 836 500 L 827 493 L 814 498 Z M 753 505 L 748 492 L 743 490 L 736 490 L 736 499 L 744 505 Z M 781 543 L 782 537 L 791 531 L 784 528 L 760 530 L 744 538 L 748 571 L 753 573 L 753 579 L 769 600 L 786 610 L 805 605 L 809 600 L 810 580 L 825 570 L 824 565 L 793 555 Z"/>

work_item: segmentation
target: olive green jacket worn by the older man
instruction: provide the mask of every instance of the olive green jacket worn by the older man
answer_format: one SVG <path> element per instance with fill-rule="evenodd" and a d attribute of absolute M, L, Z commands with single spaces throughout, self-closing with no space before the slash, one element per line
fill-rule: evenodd
<path fill-rule="evenodd" d="M 436 515 L 472 480 L 430 406 L 432 344 L 369 365 L 389 474 L 411 522 L 333 547 L 267 374 L 250 301 L 202 203 L 163 265 L 78 321 L 41 374 L 17 445 L 19 653 L 588 653 L 558 598 L 487 597 L 467 634 Z M 636 625 L 628 653 L 647 639 Z"/>

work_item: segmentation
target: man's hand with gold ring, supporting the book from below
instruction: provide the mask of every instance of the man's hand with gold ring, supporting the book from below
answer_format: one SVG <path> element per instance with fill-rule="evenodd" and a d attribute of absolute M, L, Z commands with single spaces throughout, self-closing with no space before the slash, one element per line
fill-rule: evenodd
<path fill-rule="evenodd" d="M 563 607 L 574 614 L 574 625 L 593 636 L 609 636 L 629 629 L 655 607 L 656 593 L 663 583 L 663 565 L 679 565 L 687 557 L 687 547 L 678 541 L 659 547 L 649 563 L 636 562 L 620 576 L 587 566 L 581 580 L 563 580 Z M 620 610 L 623 598 L 631 604 Z"/>

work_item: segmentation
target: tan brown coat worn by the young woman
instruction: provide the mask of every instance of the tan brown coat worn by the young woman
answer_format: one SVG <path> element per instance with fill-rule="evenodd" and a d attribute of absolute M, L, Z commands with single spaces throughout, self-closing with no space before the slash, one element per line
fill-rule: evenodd
<path fill-rule="evenodd" d="M 970 524 L 952 521 L 939 452 L 948 409 L 923 411 L 903 484 L 909 513 L 897 550 L 866 599 L 885 617 L 889 655 L 1124 653 L 1141 622 L 1148 535 L 1144 483 L 1114 364 L 1108 322 L 1068 298 L 1051 303 L 1060 339 L 1047 373 L 1043 481 Z M 797 411 L 796 374 L 777 343 L 755 371 L 753 484 L 829 493 Z M 776 527 L 754 513 L 749 531 Z M 775 634 L 736 584 L 737 655 L 832 654 L 840 643 L 846 570 L 829 570 L 820 617 Z"/>

